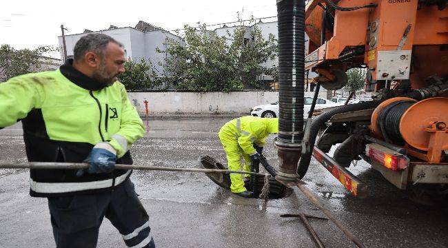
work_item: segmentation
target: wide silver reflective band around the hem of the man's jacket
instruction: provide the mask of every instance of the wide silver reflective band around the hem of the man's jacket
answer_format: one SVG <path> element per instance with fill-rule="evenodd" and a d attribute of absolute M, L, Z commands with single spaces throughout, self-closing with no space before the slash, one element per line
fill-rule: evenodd
<path fill-rule="evenodd" d="M 128 170 L 125 174 L 115 178 L 115 185 L 123 183 L 126 178 L 128 178 L 131 170 Z M 44 194 L 54 194 L 54 193 L 67 193 L 67 192 L 77 192 L 89 189 L 103 189 L 107 187 L 112 187 L 112 178 L 106 180 L 96 180 L 93 182 L 83 182 L 83 183 L 39 183 L 32 178 L 30 178 L 30 188 L 32 191 Z"/>

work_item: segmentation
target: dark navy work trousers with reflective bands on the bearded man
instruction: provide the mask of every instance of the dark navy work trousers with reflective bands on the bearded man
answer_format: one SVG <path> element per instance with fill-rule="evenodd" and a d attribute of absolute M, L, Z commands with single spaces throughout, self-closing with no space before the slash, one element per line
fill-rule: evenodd
<path fill-rule="evenodd" d="M 130 179 L 112 192 L 48 198 L 48 207 L 58 248 L 96 247 L 104 216 L 128 247 L 155 247 L 149 218 Z"/>

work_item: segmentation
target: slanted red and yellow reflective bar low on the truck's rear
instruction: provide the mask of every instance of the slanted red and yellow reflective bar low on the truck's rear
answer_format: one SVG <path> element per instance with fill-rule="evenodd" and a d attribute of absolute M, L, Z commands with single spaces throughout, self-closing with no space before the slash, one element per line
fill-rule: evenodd
<path fill-rule="evenodd" d="M 325 154 L 318 147 L 314 147 L 313 156 L 354 196 L 358 198 L 365 198 L 367 196 L 367 185 L 352 174 L 352 172 L 345 169 L 345 167 L 340 166 L 332 157 Z"/>

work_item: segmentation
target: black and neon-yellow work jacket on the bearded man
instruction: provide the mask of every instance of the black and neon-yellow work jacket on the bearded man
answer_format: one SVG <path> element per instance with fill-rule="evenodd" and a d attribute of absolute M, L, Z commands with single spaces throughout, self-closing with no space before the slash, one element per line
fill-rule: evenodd
<path fill-rule="evenodd" d="M 75 70 L 16 76 L 0 83 L 0 129 L 22 121 L 28 161 L 82 162 L 96 143 L 107 141 L 117 163 L 132 164 L 129 148 L 145 133 L 123 84 L 110 86 Z M 1 158 L 0 158 L 1 159 Z M 76 169 L 31 169 L 31 196 L 107 192 L 131 171 L 76 176 Z"/>

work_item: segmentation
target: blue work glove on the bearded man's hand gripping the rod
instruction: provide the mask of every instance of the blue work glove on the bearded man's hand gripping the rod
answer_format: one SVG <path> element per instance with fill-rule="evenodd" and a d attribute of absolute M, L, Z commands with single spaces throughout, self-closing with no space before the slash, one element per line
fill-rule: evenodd
<path fill-rule="evenodd" d="M 115 167 L 116 150 L 107 142 L 96 144 L 90 154 L 85 158 L 84 163 L 90 166 L 87 172 L 90 174 L 112 172 Z M 77 176 L 83 176 L 85 169 L 79 169 Z"/>

